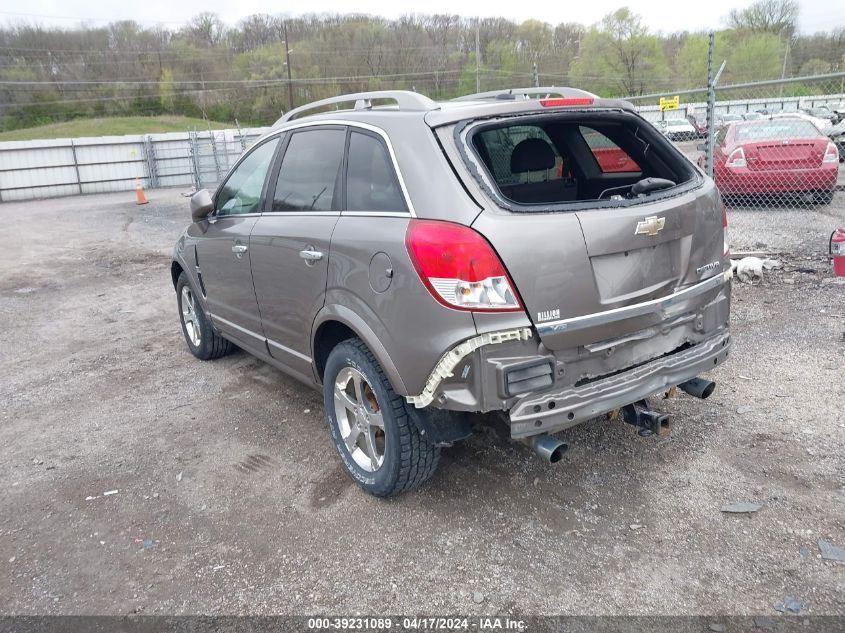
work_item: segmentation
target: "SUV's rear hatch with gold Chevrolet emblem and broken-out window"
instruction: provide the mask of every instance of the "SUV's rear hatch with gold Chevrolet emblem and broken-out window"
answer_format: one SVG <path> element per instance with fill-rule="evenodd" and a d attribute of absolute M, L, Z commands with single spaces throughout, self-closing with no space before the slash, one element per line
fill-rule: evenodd
<path fill-rule="evenodd" d="M 516 173 L 507 174 L 504 182 L 507 160 L 487 155 L 482 147 L 486 137 L 480 135 L 498 130 L 501 145 L 507 138 L 501 126 L 519 128 L 511 157 L 527 134 L 551 145 L 554 168 L 547 174 L 526 173 L 525 167 L 543 167 L 550 159 L 514 160 L 509 166 Z M 538 332 L 548 349 L 624 338 L 687 314 L 718 293 L 717 285 L 709 284 L 707 292 L 692 299 L 659 301 L 721 278 L 722 206 L 712 182 L 638 116 L 618 109 L 566 111 L 535 119 L 465 121 L 436 133 L 485 208 L 473 228 L 498 252 L 529 317 L 542 326 Z M 587 143 L 585 134 L 603 135 L 602 145 L 623 153 L 625 164 L 637 171 L 603 169 L 591 151 L 595 140 Z M 632 185 L 647 177 L 676 184 L 632 194 Z M 561 201 L 553 200 L 555 192 Z M 631 315 L 624 310 L 644 302 L 660 305 Z M 604 323 L 578 319 L 597 313 L 609 318 Z"/>

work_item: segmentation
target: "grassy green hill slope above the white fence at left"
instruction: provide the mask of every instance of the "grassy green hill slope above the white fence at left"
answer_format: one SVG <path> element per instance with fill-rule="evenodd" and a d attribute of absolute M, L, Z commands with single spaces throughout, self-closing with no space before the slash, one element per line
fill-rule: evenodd
<path fill-rule="evenodd" d="M 162 115 L 156 117 L 126 116 L 103 119 L 75 119 L 38 127 L 0 132 L 0 141 L 29 141 L 36 138 L 78 138 L 80 136 L 119 136 L 122 134 L 154 134 L 156 132 L 187 132 L 207 130 L 202 119 Z M 222 130 L 234 124 L 211 122 L 211 129 Z"/>

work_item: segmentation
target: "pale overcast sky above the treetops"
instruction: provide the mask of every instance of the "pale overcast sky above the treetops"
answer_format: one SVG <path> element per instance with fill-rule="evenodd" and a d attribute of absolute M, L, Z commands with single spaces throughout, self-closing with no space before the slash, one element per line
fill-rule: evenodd
<path fill-rule="evenodd" d="M 813 33 L 845 26 L 845 2 L 799 0 L 799 31 Z M 4 0 L 0 22 L 36 22 L 73 27 L 79 22 L 98 25 L 133 19 L 145 25 L 176 28 L 202 11 L 220 15 L 234 25 L 252 13 L 370 13 L 395 18 L 406 13 L 451 13 L 464 17 L 501 16 L 516 21 L 536 19 L 551 24 L 580 22 L 590 25 L 620 6 L 640 14 L 652 32 L 696 31 L 724 26 L 731 9 L 743 8 L 752 0 L 592 0 L 590 2 L 519 2 L 515 0 L 426 0 L 413 4 L 396 0 L 308 0 L 289 3 L 279 0 Z"/>

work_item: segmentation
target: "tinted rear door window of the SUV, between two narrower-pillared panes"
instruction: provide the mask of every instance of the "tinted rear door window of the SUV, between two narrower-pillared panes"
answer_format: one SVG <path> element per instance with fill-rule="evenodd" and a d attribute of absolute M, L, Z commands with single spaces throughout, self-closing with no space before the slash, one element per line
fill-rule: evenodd
<path fill-rule="evenodd" d="M 339 211 L 345 145 L 341 128 L 295 132 L 276 179 L 272 210 Z"/>

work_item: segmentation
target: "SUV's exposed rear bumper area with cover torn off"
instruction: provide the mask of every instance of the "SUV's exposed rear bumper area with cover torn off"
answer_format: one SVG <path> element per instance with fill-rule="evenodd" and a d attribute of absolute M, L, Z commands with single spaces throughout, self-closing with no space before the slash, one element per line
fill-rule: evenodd
<path fill-rule="evenodd" d="M 449 350 L 424 390 L 407 400 L 417 408 L 502 411 L 509 416 L 511 436 L 525 438 L 645 399 L 725 360 L 729 274 L 594 315 L 532 327 L 512 321 L 517 327 L 481 334 Z M 603 338 L 608 324 L 616 335 Z M 571 339 L 566 347 L 547 347 L 550 336 L 561 335 Z"/>

